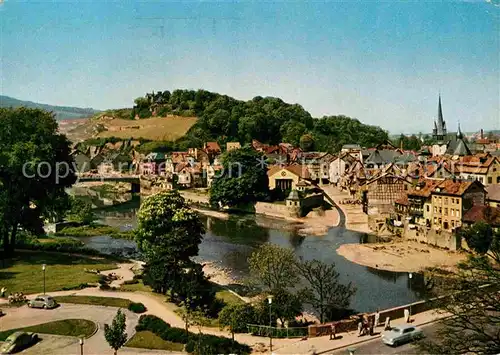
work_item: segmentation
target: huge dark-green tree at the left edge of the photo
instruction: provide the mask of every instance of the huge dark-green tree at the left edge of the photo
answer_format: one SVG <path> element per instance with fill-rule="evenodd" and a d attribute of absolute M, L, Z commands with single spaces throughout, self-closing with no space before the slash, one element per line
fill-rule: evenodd
<path fill-rule="evenodd" d="M 76 181 L 68 139 L 57 132 L 53 114 L 40 109 L 0 109 L 0 226 L 5 253 L 16 234 L 42 228 Z"/>

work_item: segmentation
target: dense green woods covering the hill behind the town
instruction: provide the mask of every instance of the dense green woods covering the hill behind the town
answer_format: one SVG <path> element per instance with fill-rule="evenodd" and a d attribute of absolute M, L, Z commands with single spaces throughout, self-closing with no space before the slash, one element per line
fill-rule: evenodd
<path fill-rule="evenodd" d="M 344 144 L 370 147 L 388 139 L 379 127 L 342 115 L 313 119 L 302 106 L 275 97 L 241 101 L 205 90 L 160 91 L 137 98 L 131 117 L 145 118 L 153 113 L 199 118 L 178 141 L 181 149 L 201 147 L 206 141 L 245 144 L 253 139 L 299 146 L 302 138 L 306 150 L 337 152 Z"/>

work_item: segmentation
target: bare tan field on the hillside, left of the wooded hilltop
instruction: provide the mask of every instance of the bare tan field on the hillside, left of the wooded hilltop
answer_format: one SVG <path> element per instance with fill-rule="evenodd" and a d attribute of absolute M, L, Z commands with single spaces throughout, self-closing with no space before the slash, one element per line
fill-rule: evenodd
<path fill-rule="evenodd" d="M 75 142 L 91 137 L 146 138 L 151 140 L 175 140 L 182 137 L 196 123 L 196 117 L 151 117 L 141 120 L 108 119 L 89 120 L 67 130 L 68 138 Z M 97 125 L 105 127 L 95 135 Z"/>

